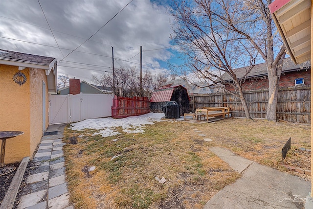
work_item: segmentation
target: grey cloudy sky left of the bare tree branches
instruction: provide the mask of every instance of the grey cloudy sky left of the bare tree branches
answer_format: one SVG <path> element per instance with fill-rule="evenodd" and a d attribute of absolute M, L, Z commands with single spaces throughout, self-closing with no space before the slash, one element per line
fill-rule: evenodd
<path fill-rule="evenodd" d="M 143 71 L 168 71 L 179 63 L 169 0 L 130 1 L 0 0 L 0 49 L 57 58 L 58 75 L 89 83 L 112 72 L 112 46 L 114 68 L 139 73 L 142 46 Z"/>

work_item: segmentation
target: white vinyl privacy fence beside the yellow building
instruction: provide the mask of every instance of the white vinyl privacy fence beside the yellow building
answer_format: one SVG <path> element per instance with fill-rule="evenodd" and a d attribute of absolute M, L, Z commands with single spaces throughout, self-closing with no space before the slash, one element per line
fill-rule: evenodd
<path fill-rule="evenodd" d="M 51 94 L 49 96 L 49 124 L 112 116 L 112 100 L 112 94 Z"/>

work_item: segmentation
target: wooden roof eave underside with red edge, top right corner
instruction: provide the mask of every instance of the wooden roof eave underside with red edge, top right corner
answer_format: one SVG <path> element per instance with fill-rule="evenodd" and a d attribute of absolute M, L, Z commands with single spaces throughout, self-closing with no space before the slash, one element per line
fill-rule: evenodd
<path fill-rule="evenodd" d="M 311 0 L 275 0 L 268 5 L 294 63 L 311 59 Z"/>

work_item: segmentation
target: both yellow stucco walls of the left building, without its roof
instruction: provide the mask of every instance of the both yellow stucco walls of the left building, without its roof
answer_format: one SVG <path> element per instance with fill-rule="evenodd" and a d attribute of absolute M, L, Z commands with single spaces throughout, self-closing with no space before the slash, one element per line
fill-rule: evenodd
<path fill-rule="evenodd" d="M 19 86 L 13 81 L 18 67 L 0 65 L 0 131 L 23 131 L 7 139 L 4 163 L 32 157 L 43 131 L 48 127 L 48 87 L 45 70 L 26 68 L 27 82 Z M 43 82 L 45 83 L 45 127 L 43 122 Z M 0 142 L 1 143 L 1 142 Z"/>

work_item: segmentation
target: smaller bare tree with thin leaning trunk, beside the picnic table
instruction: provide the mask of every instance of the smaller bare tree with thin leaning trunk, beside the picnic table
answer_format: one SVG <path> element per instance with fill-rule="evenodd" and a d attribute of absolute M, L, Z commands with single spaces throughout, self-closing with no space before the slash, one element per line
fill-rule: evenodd
<path fill-rule="evenodd" d="M 219 5 L 221 6 L 221 5 Z M 242 91 L 242 83 L 246 75 L 254 67 L 257 50 L 247 47 L 246 37 L 235 33 L 230 25 L 223 22 L 220 16 L 230 16 L 234 22 L 240 22 L 242 17 L 228 10 L 239 10 L 240 5 L 224 5 L 217 8 L 217 4 L 210 0 L 177 1 L 171 10 L 175 18 L 173 29 L 175 35 L 172 40 L 180 47 L 184 57 L 184 65 L 178 68 L 184 78 L 188 74 L 198 76 L 203 80 L 210 80 L 215 84 L 223 84 L 229 93 L 240 98 L 246 118 L 250 119 L 246 99 Z M 219 13 L 216 13 L 219 10 Z M 239 66 L 250 66 L 246 73 L 237 78 L 234 69 Z M 186 71 L 186 69 L 189 69 Z M 226 81 L 223 74 L 227 73 L 232 82 Z"/>

